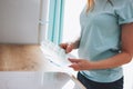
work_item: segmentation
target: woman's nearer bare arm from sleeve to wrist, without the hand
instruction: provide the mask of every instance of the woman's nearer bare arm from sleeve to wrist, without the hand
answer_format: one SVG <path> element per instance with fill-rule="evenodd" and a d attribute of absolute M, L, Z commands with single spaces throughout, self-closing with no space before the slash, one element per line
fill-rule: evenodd
<path fill-rule="evenodd" d="M 132 60 L 132 57 L 133 57 L 133 22 L 122 26 L 121 39 L 122 39 L 122 52 L 111 58 L 108 58 L 105 60 L 92 62 L 93 69 L 115 68 L 115 67 L 125 65 Z"/>

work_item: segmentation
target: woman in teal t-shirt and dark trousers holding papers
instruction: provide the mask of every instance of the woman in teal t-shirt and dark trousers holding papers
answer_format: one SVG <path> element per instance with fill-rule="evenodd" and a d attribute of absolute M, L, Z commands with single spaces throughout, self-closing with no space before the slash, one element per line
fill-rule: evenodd
<path fill-rule="evenodd" d="M 60 46 L 79 48 L 69 59 L 86 89 L 123 89 L 122 66 L 133 57 L 133 0 L 88 0 L 80 16 L 81 37 Z"/>

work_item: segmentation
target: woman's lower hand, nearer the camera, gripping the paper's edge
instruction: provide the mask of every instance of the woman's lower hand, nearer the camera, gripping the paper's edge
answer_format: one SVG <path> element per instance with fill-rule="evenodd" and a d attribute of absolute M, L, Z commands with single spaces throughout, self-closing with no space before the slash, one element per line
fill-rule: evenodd
<path fill-rule="evenodd" d="M 92 62 L 90 62 L 89 60 L 71 58 L 69 58 L 69 60 L 72 62 L 72 65 L 69 67 L 73 68 L 75 71 L 90 70 L 92 67 Z"/>

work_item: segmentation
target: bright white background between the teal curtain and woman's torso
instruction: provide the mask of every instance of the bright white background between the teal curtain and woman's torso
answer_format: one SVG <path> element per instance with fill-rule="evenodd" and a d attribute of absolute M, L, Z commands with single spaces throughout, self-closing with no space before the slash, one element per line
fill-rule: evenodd
<path fill-rule="evenodd" d="M 86 0 L 65 0 L 63 40 L 71 41 L 80 34 L 80 13 Z"/>

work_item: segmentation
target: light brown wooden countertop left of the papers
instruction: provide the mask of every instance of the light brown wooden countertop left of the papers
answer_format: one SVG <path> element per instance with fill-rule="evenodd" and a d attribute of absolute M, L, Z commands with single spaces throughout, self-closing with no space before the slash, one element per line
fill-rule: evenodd
<path fill-rule="evenodd" d="M 45 60 L 39 44 L 0 44 L 0 71 L 58 69 Z"/>

